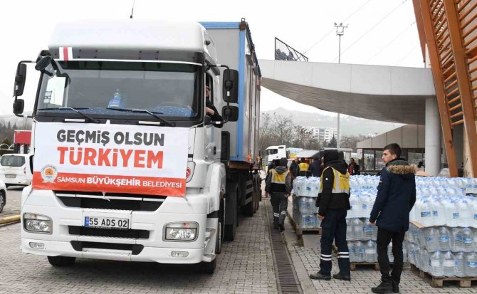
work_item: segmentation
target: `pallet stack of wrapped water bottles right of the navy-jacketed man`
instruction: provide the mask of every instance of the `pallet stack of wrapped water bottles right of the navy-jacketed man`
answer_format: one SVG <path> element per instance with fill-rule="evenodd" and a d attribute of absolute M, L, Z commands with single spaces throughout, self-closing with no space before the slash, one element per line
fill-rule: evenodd
<path fill-rule="evenodd" d="M 409 262 L 435 277 L 477 277 L 477 179 L 417 177 Z"/>

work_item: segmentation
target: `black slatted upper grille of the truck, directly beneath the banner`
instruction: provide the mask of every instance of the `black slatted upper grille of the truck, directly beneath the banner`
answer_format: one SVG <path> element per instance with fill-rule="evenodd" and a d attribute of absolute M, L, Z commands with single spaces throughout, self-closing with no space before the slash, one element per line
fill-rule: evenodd
<path fill-rule="evenodd" d="M 137 194 L 109 194 L 97 192 L 55 191 L 58 199 L 68 207 L 83 209 L 114 209 L 132 211 L 156 211 L 167 196 Z"/>

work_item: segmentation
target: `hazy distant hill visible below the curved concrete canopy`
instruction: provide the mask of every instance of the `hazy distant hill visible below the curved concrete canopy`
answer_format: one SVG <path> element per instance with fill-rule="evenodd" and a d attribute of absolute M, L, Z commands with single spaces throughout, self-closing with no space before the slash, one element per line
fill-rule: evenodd
<path fill-rule="evenodd" d="M 267 110 L 263 112 L 271 115 L 273 115 L 275 112 L 278 115 L 290 116 L 295 125 L 301 125 L 303 127 L 325 127 L 335 129 L 337 127 L 336 115 L 322 115 L 319 113 L 285 110 L 283 107 L 278 107 L 276 110 Z M 401 126 L 402 124 L 393 122 L 366 120 L 364 118 L 352 116 L 340 117 L 341 134 L 344 136 L 368 135 L 372 133 L 377 133 L 379 135 Z"/>

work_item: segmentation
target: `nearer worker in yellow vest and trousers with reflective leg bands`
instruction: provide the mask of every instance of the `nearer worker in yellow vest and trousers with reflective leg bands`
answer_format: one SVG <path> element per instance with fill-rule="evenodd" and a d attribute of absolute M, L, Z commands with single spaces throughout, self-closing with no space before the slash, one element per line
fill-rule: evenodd
<path fill-rule="evenodd" d="M 350 174 L 339 159 L 336 149 L 323 152 L 325 168 L 320 177 L 320 191 L 316 200 L 321 221 L 320 271 L 310 275 L 315 280 L 331 279 L 331 250 L 333 239 L 338 247 L 339 280 L 351 280 L 350 253 L 346 241 L 346 214 L 350 209 Z"/>

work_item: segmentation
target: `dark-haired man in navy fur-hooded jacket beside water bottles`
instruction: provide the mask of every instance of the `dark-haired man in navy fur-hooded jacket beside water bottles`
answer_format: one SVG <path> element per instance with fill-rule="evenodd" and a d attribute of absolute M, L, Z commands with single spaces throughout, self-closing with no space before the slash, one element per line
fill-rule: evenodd
<path fill-rule="evenodd" d="M 399 293 L 402 273 L 402 242 L 409 229 L 409 212 L 416 202 L 416 166 L 409 165 L 401 157 L 401 147 L 393 143 L 384 147 L 377 196 L 372 207 L 369 223 L 377 221 L 377 261 L 382 283 L 371 288 L 373 293 Z M 392 240 L 394 266 L 389 275 L 387 246 Z"/>

